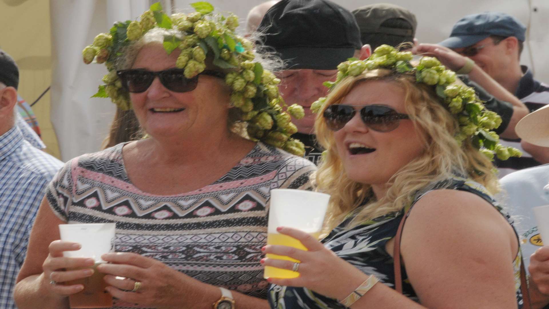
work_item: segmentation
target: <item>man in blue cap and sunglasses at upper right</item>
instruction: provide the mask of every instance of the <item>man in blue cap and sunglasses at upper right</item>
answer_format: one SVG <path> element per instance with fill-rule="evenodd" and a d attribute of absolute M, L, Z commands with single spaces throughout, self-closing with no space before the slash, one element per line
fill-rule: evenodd
<path fill-rule="evenodd" d="M 549 86 L 535 80 L 531 70 L 520 65 L 525 32 L 526 27 L 513 16 L 485 12 L 467 15 L 457 21 L 450 37 L 440 45 L 470 59 L 462 68 L 464 74 L 472 74 L 476 67 L 480 68 L 519 98 L 528 113 L 549 103 Z M 496 160 L 500 176 L 549 163 L 549 148 L 521 143 L 520 139 L 503 139 L 502 144 L 524 151 L 520 158 Z"/>

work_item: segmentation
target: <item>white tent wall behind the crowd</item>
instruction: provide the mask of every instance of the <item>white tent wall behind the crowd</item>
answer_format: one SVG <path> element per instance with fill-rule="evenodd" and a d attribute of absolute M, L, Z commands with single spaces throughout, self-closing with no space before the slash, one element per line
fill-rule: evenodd
<path fill-rule="evenodd" d="M 52 111 L 51 120 L 59 140 L 61 159 L 98 151 L 107 135 L 115 106 L 104 98 L 90 98 L 107 72 L 104 65 L 86 65 L 81 51 L 100 32 L 108 32 L 114 21 L 135 19 L 149 0 L 51 0 L 52 15 Z M 164 7 L 189 10 L 194 1 L 163 0 Z M 217 10 L 231 11 L 245 26 L 248 10 L 261 0 L 211 0 Z M 377 1 L 335 0 L 352 10 Z M 522 63 L 534 69 L 537 79 L 549 82 L 549 34 L 547 0 L 384 0 L 410 9 L 417 16 L 420 42 L 439 42 L 462 16 L 488 10 L 516 16 L 529 27 Z M 365 42 L 367 43 L 367 42 Z"/>

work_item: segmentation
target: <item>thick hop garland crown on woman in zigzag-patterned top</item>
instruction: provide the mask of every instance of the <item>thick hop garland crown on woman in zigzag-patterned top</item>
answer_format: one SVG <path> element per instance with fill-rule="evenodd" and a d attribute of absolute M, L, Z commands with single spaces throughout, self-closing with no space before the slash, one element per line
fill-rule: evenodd
<path fill-rule="evenodd" d="M 86 64 L 105 63 L 109 73 L 103 78 L 105 84 L 100 85 L 92 97 L 110 97 L 119 108 L 131 109 L 129 93 L 116 75 L 117 58 L 132 41 L 139 40 L 155 27 L 178 31 L 182 38 L 165 35 L 163 46 L 167 54 L 180 49 L 176 67 L 184 69 L 186 78 L 204 71 L 206 56 L 213 54 L 213 64 L 229 70 L 225 82 L 232 88 L 231 105 L 242 111 L 240 120 L 247 123 L 248 137 L 304 156 L 305 146 L 290 135 L 298 131 L 292 117 L 300 119 L 305 112 L 298 104 L 287 106 L 278 92 L 280 80 L 259 62 L 253 61 L 253 44 L 234 32 L 238 27 L 238 17 L 233 14 L 227 17 L 214 15 L 214 7 L 208 2 L 195 2 L 191 6 L 196 12 L 168 16 L 160 3 L 155 3 L 140 16 L 139 21 L 118 22 L 109 33 L 97 35 L 93 44 L 83 49 L 83 61 Z"/>

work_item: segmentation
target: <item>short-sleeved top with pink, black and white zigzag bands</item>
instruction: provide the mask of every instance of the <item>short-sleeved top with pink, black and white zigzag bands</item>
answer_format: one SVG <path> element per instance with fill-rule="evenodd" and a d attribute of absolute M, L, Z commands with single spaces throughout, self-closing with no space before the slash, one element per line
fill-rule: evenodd
<path fill-rule="evenodd" d="M 48 186 L 53 212 L 67 223 L 116 223 L 117 252 L 155 258 L 201 282 L 266 298 L 259 261 L 271 189 L 308 189 L 316 166 L 258 142 L 214 183 L 161 196 L 132 184 L 122 146 L 65 164 Z M 114 301 L 113 308 L 127 307 L 136 305 Z"/>

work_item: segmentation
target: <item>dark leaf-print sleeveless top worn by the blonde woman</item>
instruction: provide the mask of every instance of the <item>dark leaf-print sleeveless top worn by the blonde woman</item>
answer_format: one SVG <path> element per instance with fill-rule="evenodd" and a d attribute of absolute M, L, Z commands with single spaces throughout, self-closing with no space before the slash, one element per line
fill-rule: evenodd
<path fill-rule="evenodd" d="M 512 220 L 509 215 L 498 206 L 497 202 L 490 195 L 488 190 L 479 183 L 475 183 L 466 178 L 458 176 L 432 184 L 428 188 L 418 191 L 411 207 L 419 198 L 427 192 L 436 189 L 463 190 L 476 194 L 493 205 L 500 213 L 505 216 L 509 224 Z M 410 214 L 410 212 L 408 212 Z M 332 232 L 326 236 L 322 242 L 324 246 L 334 251 L 339 257 L 354 265 L 361 272 L 375 275 L 380 283 L 391 288 L 395 286 L 394 261 L 385 251 L 385 244 L 394 238 L 399 223 L 404 215 L 404 211 L 388 214 L 369 222 L 348 229 L 345 225 L 353 218 L 350 216 Z M 518 236 L 517 236 L 518 239 Z M 522 255 L 519 253 L 513 263 L 515 271 L 515 286 L 517 293 L 517 304 L 522 308 L 522 293 L 520 291 L 520 263 Z M 413 286 L 407 278 L 406 269 L 401 267 L 402 274 L 402 293 L 408 298 L 419 301 L 413 290 Z M 343 305 L 337 300 L 315 293 L 306 288 L 294 288 L 292 286 L 271 285 L 268 293 L 268 301 L 271 308 L 276 309 L 343 309 Z"/>

